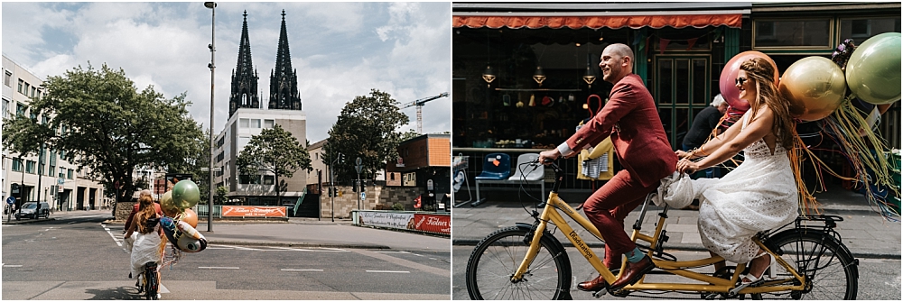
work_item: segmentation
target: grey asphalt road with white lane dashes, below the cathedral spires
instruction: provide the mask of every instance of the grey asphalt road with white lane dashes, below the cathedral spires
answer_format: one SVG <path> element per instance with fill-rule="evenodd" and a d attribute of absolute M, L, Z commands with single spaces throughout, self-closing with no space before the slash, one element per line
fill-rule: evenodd
<path fill-rule="evenodd" d="M 122 226 L 57 217 L 3 225 L 3 299 L 141 298 Z M 211 245 L 182 255 L 162 270 L 163 299 L 450 297 L 450 252 Z"/>

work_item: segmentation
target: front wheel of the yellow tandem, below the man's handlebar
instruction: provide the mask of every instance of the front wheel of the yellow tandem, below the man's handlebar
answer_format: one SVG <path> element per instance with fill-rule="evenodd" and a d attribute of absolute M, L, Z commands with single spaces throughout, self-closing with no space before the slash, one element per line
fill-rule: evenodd
<path fill-rule="evenodd" d="M 524 260 L 529 229 L 508 227 L 477 243 L 467 261 L 467 292 L 474 300 L 558 300 L 570 297 L 571 262 L 552 235 L 545 233 L 524 278 L 514 274 Z"/>

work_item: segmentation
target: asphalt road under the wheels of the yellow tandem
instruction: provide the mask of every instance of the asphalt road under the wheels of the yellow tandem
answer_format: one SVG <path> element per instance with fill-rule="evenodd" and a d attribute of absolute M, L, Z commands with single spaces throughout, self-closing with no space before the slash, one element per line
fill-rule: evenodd
<path fill-rule="evenodd" d="M 452 247 L 452 299 L 468 300 L 467 287 L 465 285 L 465 271 L 467 270 L 467 260 L 473 246 L 456 245 Z M 576 284 L 584 280 L 596 277 L 595 270 L 580 256 L 573 248 L 568 248 L 571 255 L 571 269 L 573 270 L 573 280 L 571 285 L 571 296 L 578 300 L 594 299 L 590 293 L 576 289 Z M 602 254 L 601 248 L 593 249 L 593 252 Z M 673 252 L 675 257 L 681 260 L 703 259 L 707 257 L 708 252 Z M 859 290 L 857 299 L 859 300 L 900 300 L 900 268 L 899 259 L 860 259 L 859 264 Z M 662 294 L 660 298 L 694 298 L 698 296 L 687 296 L 677 294 Z M 654 297 L 654 298 L 658 298 Z M 612 297 L 605 295 L 600 297 L 601 300 L 613 299 L 649 299 L 653 297 Z"/>

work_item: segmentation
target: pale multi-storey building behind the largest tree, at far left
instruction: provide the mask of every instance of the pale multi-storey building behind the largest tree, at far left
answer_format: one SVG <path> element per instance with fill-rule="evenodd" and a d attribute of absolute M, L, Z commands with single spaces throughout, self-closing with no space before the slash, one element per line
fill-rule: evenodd
<path fill-rule="evenodd" d="M 46 121 L 46 116 L 36 115 L 29 108 L 33 98 L 44 95 L 43 80 L 6 56 L 3 56 L 3 73 L 3 118 L 23 114 Z M 87 178 L 85 170 L 64 160 L 65 156 L 65 151 L 46 148 L 37 155 L 22 156 L 4 148 L 3 199 L 14 197 L 17 206 L 24 202 L 47 202 L 58 211 L 105 206 L 108 200 L 103 186 Z"/>

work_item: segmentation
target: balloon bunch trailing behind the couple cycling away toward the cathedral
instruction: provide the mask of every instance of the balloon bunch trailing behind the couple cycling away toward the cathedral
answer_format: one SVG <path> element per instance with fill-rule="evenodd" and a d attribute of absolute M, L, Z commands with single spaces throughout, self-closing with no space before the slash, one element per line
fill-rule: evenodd
<path fill-rule="evenodd" d="M 207 248 L 207 238 L 200 234 L 198 215 L 191 210 L 200 201 L 200 189 L 191 180 L 182 180 L 160 198 L 163 217 L 160 225 L 172 245 L 182 252 L 200 252 Z"/>

